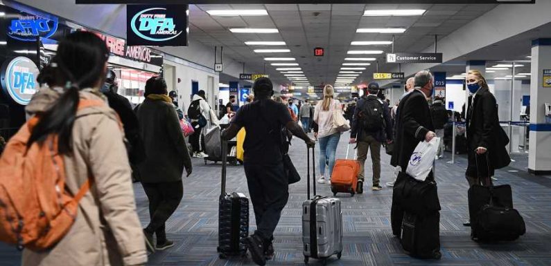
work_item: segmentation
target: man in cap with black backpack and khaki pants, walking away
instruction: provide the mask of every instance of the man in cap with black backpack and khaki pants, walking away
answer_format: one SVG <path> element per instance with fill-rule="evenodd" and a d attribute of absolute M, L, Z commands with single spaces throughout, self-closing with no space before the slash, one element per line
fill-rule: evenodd
<path fill-rule="evenodd" d="M 363 193 L 364 164 L 367 153 L 371 149 L 371 162 L 373 164 L 373 187 L 371 190 L 383 189 L 381 180 L 381 143 L 392 143 L 392 122 L 390 121 L 390 109 L 388 104 L 377 97 L 379 84 L 371 82 L 364 88 L 364 95 L 358 101 L 352 119 L 350 143 L 358 143 L 358 162 L 360 162 L 360 174 L 358 175 L 358 193 Z"/>

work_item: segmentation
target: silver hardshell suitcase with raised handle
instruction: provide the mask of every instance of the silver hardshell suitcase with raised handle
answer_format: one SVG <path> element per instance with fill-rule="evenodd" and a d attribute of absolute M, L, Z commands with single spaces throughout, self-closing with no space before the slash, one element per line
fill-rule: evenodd
<path fill-rule="evenodd" d="M 315 149 L 312 160 L 315 162 Z M 315 163 L 313 163 L 314 198 L 310 198 L 310 150 L 308 149 L 308 200 L 302 203 L 302 242 L 304 243 L 304 263 L 309 258 L 323 260 L 337 254 L 342 255 L 342 211 L 338 198 L 316 196 Z"/>

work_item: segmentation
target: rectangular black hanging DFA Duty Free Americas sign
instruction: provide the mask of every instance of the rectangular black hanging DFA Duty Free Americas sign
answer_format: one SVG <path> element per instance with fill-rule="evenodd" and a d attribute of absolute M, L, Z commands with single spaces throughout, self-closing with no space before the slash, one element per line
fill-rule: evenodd
<path fill-rule="evenodd" d="M 128 45 L 187 46 L 188 15 L 187 5 L 128 5 Z"/>

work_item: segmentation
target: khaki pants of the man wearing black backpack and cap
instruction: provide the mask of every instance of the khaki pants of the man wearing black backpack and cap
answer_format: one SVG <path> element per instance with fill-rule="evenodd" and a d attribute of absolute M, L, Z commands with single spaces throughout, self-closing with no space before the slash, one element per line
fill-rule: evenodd
<path fill-rule="evenodd" d="M 376 187 L 379 185 L 379 180 L 381 180 L 381 142 L 375 140 L 371 135 L 358 140 L 358 162 L 360 162 L 358 181 L 364 182 L 364 164 L 369 149 L 371 149 L 371 162 L 373 164 L 373 186 Z"/>

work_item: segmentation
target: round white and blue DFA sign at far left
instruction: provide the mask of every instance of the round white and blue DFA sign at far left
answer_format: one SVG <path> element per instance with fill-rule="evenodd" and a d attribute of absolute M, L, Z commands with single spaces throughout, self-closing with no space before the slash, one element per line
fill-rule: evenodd
<path fill-rule="evenodd" d="M 39 70 L 27 57 L 12 59 L 2 71 L 2 87 L 17 104 L 27 105 L 37 91 Z"/>

